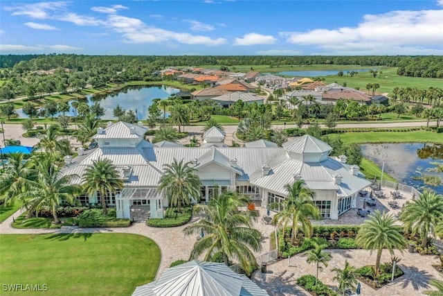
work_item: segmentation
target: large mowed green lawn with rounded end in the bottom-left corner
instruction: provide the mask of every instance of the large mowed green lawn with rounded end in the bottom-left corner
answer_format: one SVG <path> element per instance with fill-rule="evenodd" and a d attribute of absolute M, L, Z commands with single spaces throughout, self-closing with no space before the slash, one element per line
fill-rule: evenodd
<path fill-rule="evenodd" d="M 2 234 L 0 242 L 1 284 L 46 284 L 42 295 L 131 295 L 161 260 L 154 241 L 134 234 Z"/>

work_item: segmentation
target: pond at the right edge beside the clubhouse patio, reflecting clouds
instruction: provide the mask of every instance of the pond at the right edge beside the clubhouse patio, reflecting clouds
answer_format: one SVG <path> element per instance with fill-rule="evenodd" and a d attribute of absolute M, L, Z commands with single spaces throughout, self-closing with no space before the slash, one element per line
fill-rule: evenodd
<path fill-rule="evenodd" d="M 443 184 L 431 185 L 432 180 L 442 180 L 437 165 L 443 165 L 443 145 L 431 143 L 381 143 L 361 146 L 364 157 L 385 164 L 384 171 L 403 184 L 422 191 L 431 188 L 443 194 Z M 428 183 L 428 184 L 426 184 Z"/>

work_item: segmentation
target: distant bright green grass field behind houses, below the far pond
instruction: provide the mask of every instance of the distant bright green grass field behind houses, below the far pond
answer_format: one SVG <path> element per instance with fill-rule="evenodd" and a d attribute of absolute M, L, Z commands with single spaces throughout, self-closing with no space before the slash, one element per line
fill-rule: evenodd
<path fill-rule="evenodd" d="M 354 77 L 346 76 L 346 73 L 344 73 L 343 77 L 338 77 L 337 75 L 324 77 L 325 82 L 327 83 L 337 82 L 339 85 L 343 85 L 343 82 L 346 82 L 347 87 L 360 87 L 360 90 L 363 92 L 368 92 L 368 90 L 366 89 L 366 84 L 378 83 L 380 85 L 380 88 L 377 89 L 377 93 L 387 92 L 390 94 L 392 93 L 392 89 L 394 89 L 394 87 L 418 87 L 419 89 L 428 89 L 429 87 L 442 87 L 443 85 L 443 80 L 438 78 L 397 76 L 397 67 L 386 68 L 377 71 L 383 72 L 381 74 L 381 78 L 379 78 L 378 74 L 377 78 L 373 78 L 372 74 L 369 72 L 358 73 Z"/>

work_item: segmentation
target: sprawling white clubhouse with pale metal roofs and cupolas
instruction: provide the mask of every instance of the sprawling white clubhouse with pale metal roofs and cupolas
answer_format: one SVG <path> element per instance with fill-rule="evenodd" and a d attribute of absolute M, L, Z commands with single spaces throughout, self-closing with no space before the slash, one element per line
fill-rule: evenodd
<path fill-rule="evenodd" d="M 98 128 L 93 137 L 98 148 L 78 150 L 78 157 L 65 157 L 64 175 L 77 175 L 81 182 L 86 168 L 98 159 L 110 159 L 124 181 L 123 190 L 105 196 L 115 206 L 118 218 L 133 218 L 142 212 L 150 218 L 163 218 L 168 198 L 158 190 L 164 164 L 174 159 L 196 168 L 201 194 L 192 202 L 208 202 L 216 190 L 237 191 L 258 206 L 267 207 L 287 195 L 285 184 L 303 180 L 316 195 L 314 202 L 323 218 L 336 220 L 356 207 L 356 195 L 371 184 L 359 166 L 346 164 L 346 157 L 330 157 L 332 147 L 309 135 L 296 137 L 279 148 L 270 141 L 254 141 L 245 147 L 228 147 L 224 132 L 210 128 L 201 147 L 184 147 L 163 141 L 152 144 L 144 139 L 147 128 L 125 122 Z M 100 202 L 100 193 L 82 195 L 80 202 Z M 145 218 L 145 219 L 146 219 Z"/>

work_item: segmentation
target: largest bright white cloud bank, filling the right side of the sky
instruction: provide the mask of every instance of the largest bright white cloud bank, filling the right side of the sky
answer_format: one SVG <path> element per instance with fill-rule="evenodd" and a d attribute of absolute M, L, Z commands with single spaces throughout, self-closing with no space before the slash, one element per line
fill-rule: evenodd
<path fill-rule="evenodd" d="M 440 0 L 443 1 L 443 0 Z M 287 42 L 317 46 L 328 54 L 419 54 L 439 52 L 443 44 L 443 10 L 397 10 L 365 15 L 358 26 L 333 30 L 281 32 Z"/>

